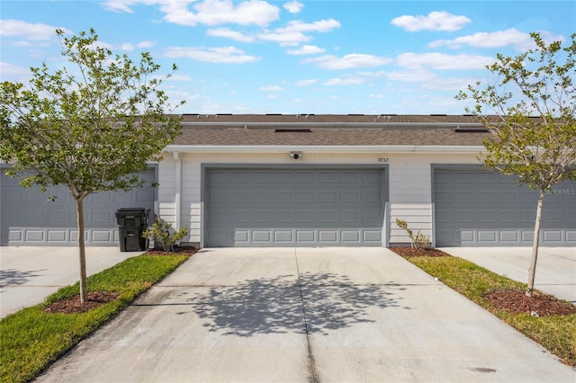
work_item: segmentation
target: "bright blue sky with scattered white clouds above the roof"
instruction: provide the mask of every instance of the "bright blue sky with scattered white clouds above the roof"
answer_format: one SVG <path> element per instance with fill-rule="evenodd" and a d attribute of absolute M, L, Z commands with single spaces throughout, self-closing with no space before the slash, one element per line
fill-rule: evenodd
<path fill-rule="evenodd" d="M 55 34 L 178 70 L 178 113 L 463 114 L 497 53 L 567 42 L 576 1 L 0 0 L 0 80 L 68 65 Z"/>

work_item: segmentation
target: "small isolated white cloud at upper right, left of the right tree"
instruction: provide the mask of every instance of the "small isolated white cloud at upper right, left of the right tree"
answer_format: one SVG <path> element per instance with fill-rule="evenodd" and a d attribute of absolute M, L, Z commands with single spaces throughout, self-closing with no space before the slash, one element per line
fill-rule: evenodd
<path fill-rule="evenodd" d="M 403 15 L 392 19 L 392 25 L 406 31 L 458 31 L 468 22 L 472 20 L 466 16 L 456 16 L 445 11 L 430 12 L 428 16 Z"/>

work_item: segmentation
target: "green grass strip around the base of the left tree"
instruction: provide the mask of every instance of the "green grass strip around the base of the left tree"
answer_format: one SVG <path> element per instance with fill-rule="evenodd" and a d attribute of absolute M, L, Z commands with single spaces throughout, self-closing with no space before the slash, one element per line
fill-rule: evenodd
<path fill-rule="evenodd" d="M 78 284 L 58 289 L 45 303 L 0 320 L 0 382 L 34 379 L 59 356 L 94 332 L 134 298 L 188 259 L 185 255 L 128 258 L 87 279 L 88 291 L 113 291 L 120 297 L 82 314 L 48 314 L 51 302 L 78 295 Z"/>

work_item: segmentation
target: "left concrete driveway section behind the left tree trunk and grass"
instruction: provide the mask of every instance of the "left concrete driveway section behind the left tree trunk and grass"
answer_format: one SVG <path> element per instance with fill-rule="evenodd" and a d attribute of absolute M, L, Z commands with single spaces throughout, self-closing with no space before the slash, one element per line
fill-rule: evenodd
<path fill-rule="evenodd" d="M 86 247 L 86 272 L 92 275 L 142 252 Z M 59 288 L 79 280 L 76 246 L 0 246 L 0 317 L 41 303 Z"/>

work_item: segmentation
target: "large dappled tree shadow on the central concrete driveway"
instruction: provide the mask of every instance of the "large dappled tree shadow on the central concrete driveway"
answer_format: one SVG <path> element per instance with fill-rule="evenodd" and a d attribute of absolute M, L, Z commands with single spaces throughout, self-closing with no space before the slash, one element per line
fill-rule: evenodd
<path fill-rule="evenodd" d="M 346 275 L 319 272 L 303 273 L 299 280 L 284 275 L 213 287 L 187 301 L 211 332 L 242 337 L 328 334 L 328 330 L 374 322 L 366 316 L 370 307 L 399 307 L 394 289 L 404 288 L 397 284 L 357 285 Z"/>

